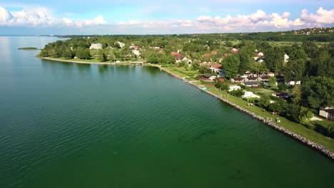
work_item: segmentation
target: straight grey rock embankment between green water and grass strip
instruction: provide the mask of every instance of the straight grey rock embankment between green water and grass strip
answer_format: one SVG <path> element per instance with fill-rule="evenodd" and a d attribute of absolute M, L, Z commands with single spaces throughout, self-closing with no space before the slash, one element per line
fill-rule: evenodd
<path fill-rule="evenodd" d="M 171 71 L 168 71 L 164 68 L 161 68 L 161 66 L 156 66 L 156 67 L 160 68 L 161 70 L 165 71 L 166 73 L 169 73 L 169 74 L 173 75 L 174 77 L 176 77 L 178 79 L 184 80 L 180 76 L 178 76 L 174 73 L 171 73 Z M 195 83 L 192 83 L 192 82 L 189 82 L 189 81 L 187 81 L 187 83 L 195 86 L 196 88 L 198 88 L 200 90 L 203 90 L 200 86 L 196 85 Z M 260 115 L 256 115 L 255 113 L 252 113 L 250 110 L 246 110 L 245 108 L 242 108 L 241 106 L 236 105 L 235 103 L 231 103 L 231 101 L 227 100 L 226 98 L 222 98 L 221 96 L 218 96 L 218 95 L 212 93 L 211 91 L 208 91 L 208 90 L 203 90 L 203 91 L 205 91 L 206 93 L 208 93 L 210 95 L 213 95 L 214 97 L 218 98 L 219 100 L 221 100 L 225 103 L 228 103 L 229 105 L 233 106 L 234 108 L 236 108 L 238 110 L 241 110 L 244 113 L 248 113 L 248 115 L 251 115 L 251 116 L 257 118 L 258 120 L 263 121 L 263 123 L 265 125 L 269 125 L 273 129 L 278 130 L 280 132 L 283 132 L 285 135 L 288 135 L 289 137 L 293 137 L 294 139 L 302 142 L 303 144 L 307 145 L 308 147 L 312 147 L 314 150 L 317 150 L 318 152 L 322 153 L 326 157 L 329 157 L 330 159 L 334 160 L 334 153 L 331 152 L 330 150 L 328 150 L 327 148 L 323 147 L 323 145 L 319 145 L 315 142 L 312 142 L 312 141 L 308 140 L 305 137 L 302 137 L 298 134 L 295 134 L 294 132 L 292 132 L 288 129 L 285 129 L 284 127 L 281 127 L 280 125 L 277 125 L 275 122 L 273 122 L 271 120 L 268 120 L 264 117 L 261 117 Z"/>

